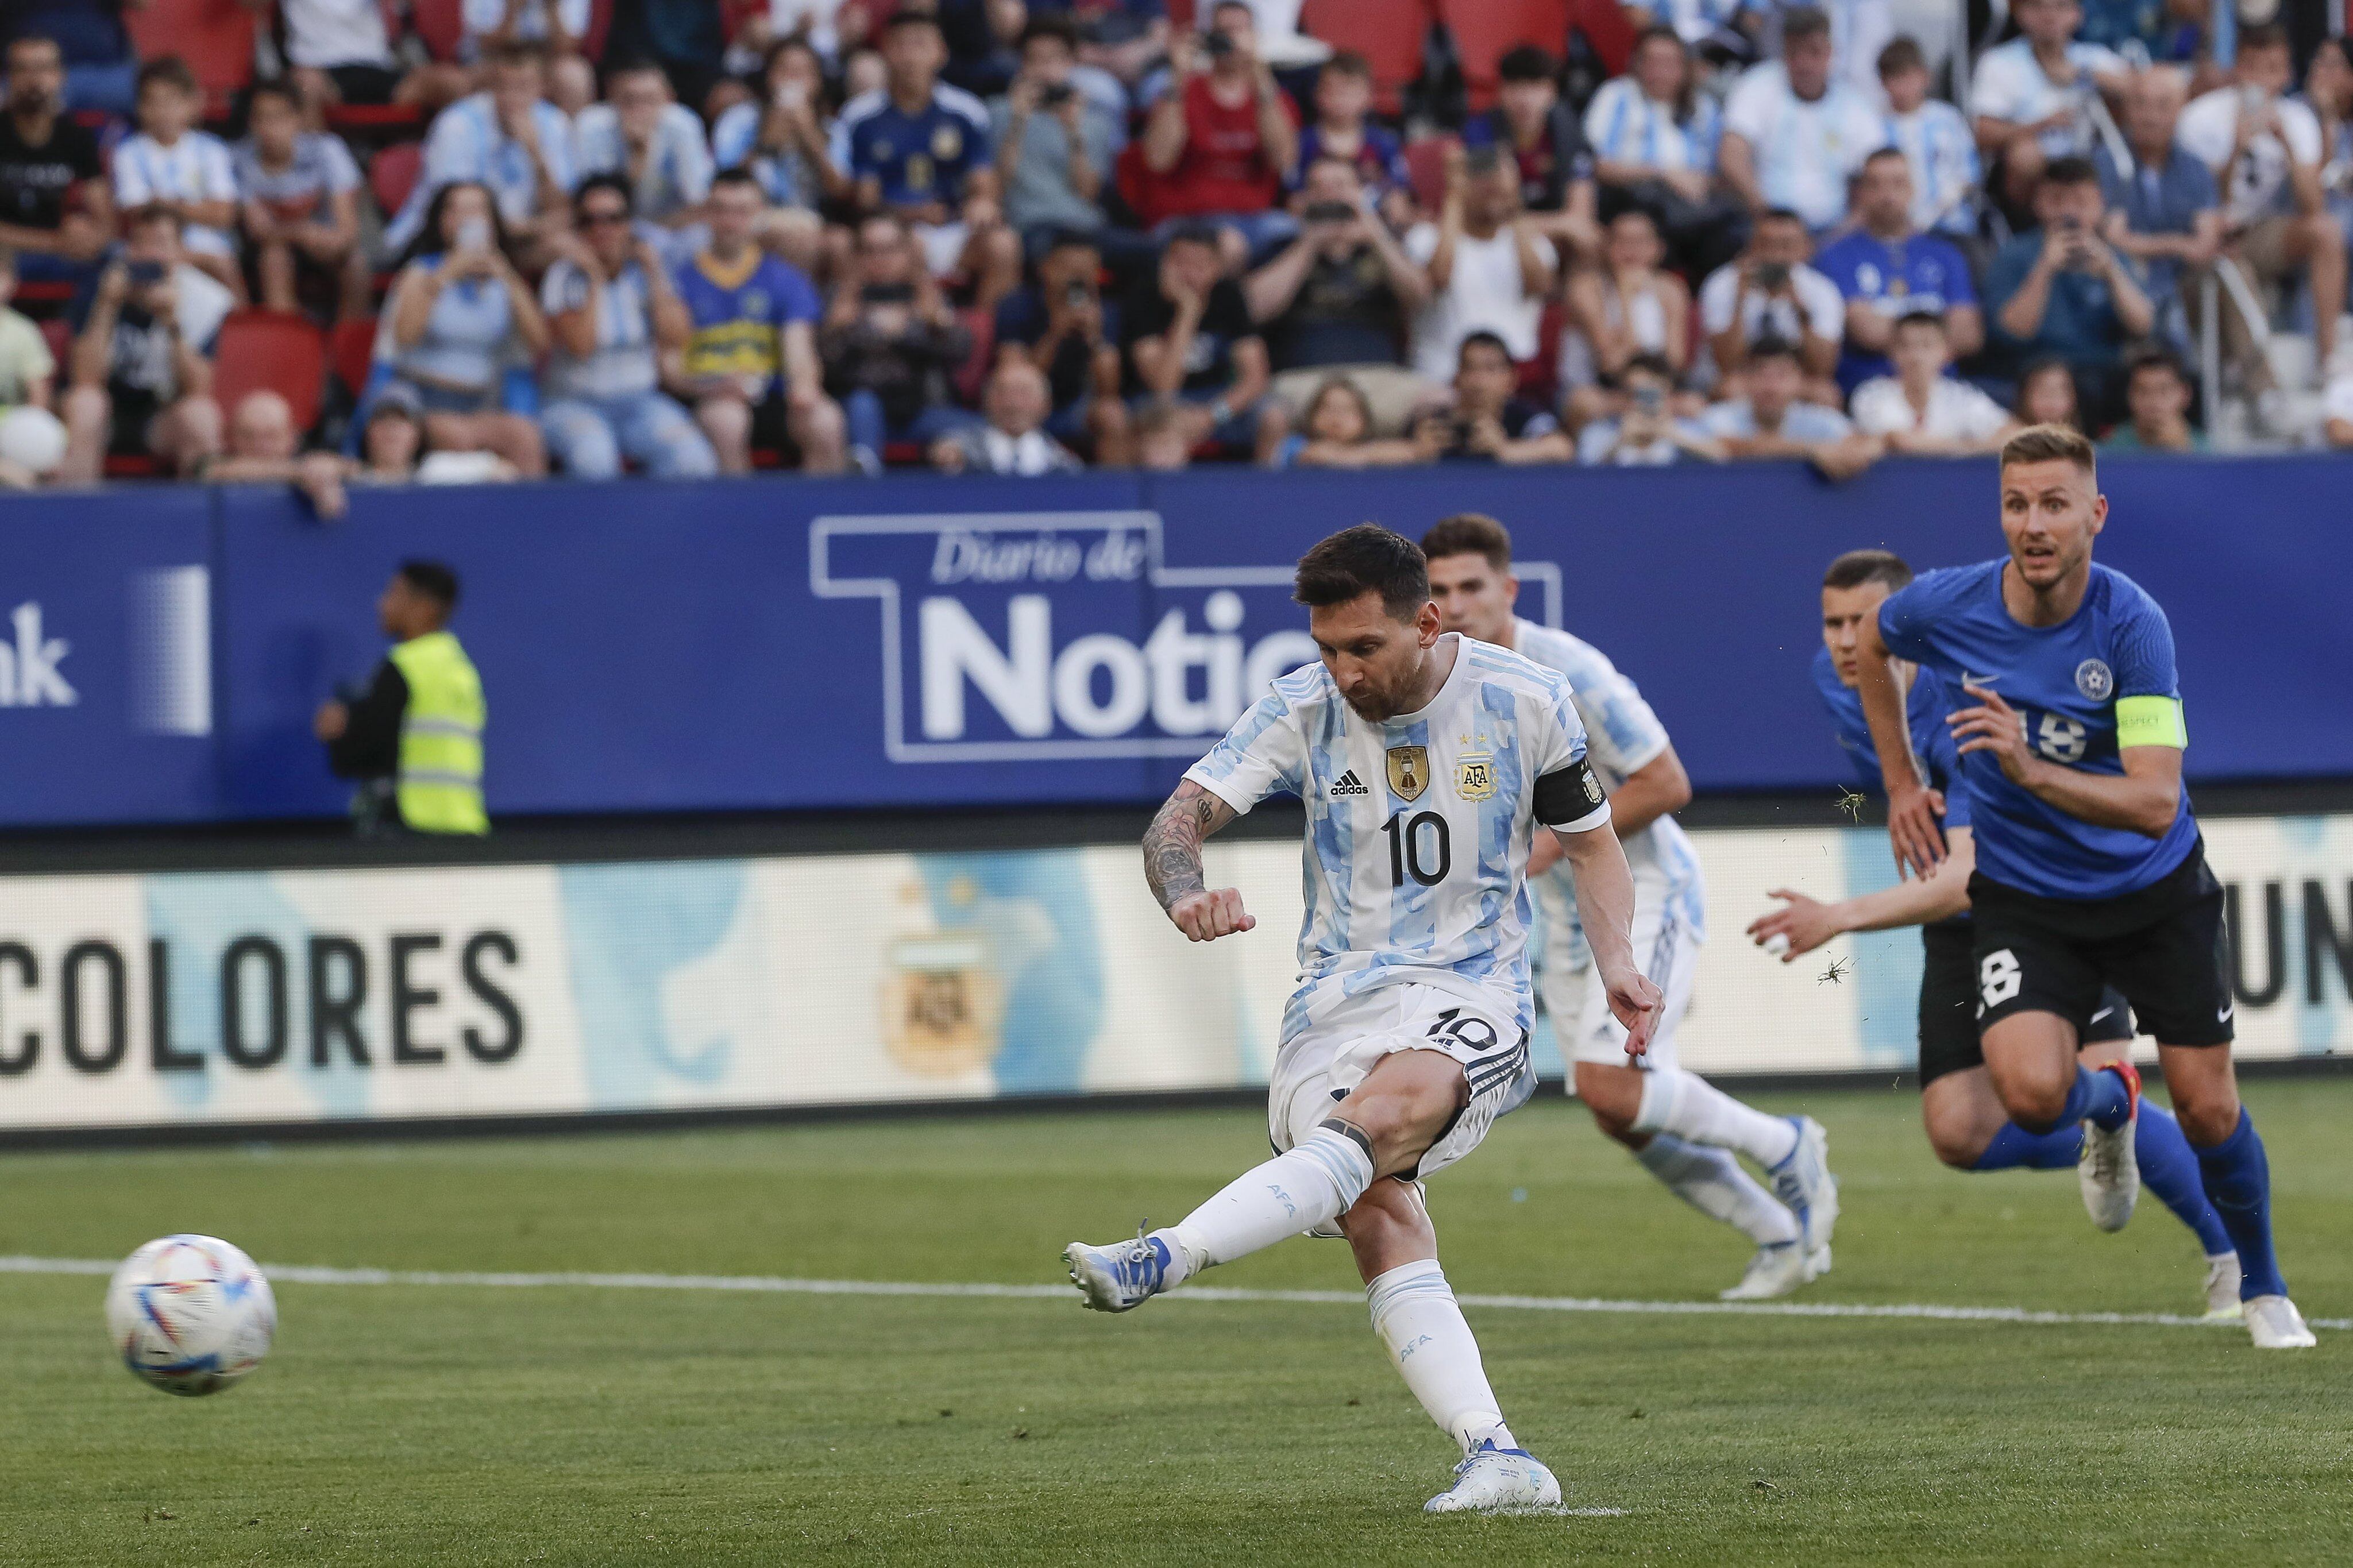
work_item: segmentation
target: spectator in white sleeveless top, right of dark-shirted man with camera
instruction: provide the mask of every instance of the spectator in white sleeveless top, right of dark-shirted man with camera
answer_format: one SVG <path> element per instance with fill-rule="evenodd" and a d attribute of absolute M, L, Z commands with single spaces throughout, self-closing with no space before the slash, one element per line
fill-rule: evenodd
<path fill-rule="evenodd" d="M 1520 212 L 1520 169 L 1497 148 L 1447 148 L 1447 195 L 1435 223 L 1405 235 L 1405 254 L 1431 275 L 1431 303 L 1414 315 L 1414 374 L 1454 381 L 1473 331 L 1504 341 L 1513 364 L 1537 357 L 1553 247 Z"/>

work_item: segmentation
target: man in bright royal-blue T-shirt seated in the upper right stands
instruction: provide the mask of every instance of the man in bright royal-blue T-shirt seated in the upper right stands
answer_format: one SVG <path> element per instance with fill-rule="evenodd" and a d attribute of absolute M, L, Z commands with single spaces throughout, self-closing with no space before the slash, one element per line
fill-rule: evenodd
<path fill-rule="evenodd" d="M 1847 336 L 1838 355 L 1838 390 L 1854 395 L 1864 381 L 1887 376 L 1887 350 L 1906 315 L 1944 317 L 1955 360 L 1986 341 L 1969 261 L 1939 235 L 1913 228 L 1911 160 L 1880 148 L 1854 179 L 1854 228 L 1814 254 L 1814 270 L 1847 299 Z"/>

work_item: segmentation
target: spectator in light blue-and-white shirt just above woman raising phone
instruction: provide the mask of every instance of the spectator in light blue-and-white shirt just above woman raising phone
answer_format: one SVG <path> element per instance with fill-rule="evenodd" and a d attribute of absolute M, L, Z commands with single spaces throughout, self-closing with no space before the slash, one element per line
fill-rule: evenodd
<path fill-rule="evenodd" d="M 384 228 L 384 247 L 402 252 L 424 228 L 433 193 L 459 181 L 496 197 L 525 268 L 544 266 L 548 242 L 572 228 L 572 186 L 579 153 L 572 118 L 546 99 L 546 54 L 539 45 L 499 45 L 489 54 L 489 89 L 459 99 L 426 132 L 424 172 L 409 200 Z"/>

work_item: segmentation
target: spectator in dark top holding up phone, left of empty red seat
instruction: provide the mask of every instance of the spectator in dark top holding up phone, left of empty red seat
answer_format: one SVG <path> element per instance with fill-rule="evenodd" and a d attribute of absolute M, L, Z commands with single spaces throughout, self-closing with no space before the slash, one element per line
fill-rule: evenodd
<path fill-rule="evenodd" d="M 94 484 L 108 454 L 153 456 L 186 477 L 221 449 L 212 346 L 235 301 L 188 263 L 172 207 L 141 207 L 122 230 L 120 254 L 78 301 L 68 484 Z"/>

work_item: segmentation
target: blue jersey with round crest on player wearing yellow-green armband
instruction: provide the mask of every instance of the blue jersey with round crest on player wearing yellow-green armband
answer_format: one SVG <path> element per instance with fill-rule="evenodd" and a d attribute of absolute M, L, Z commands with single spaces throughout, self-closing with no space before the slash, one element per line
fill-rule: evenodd
<path fill-rule="evenodd" d="M 2082 604 L 2059 625 L 2021 625 L 2002 604 L 2005 559 L 1929 571 L 1880 604 L 1880 639 L 1941 675 L 1951 701 L 1986 686 L 2026 717 L 2045 762 L 2122 773 L 2115 703 L 2179 701 L 2174 628 L 2139 583 L 2092 567 Z M 2097 827 L 2009 783 L 1993 752 L 1960 757 L 1977 832 L 1977 870 L 2042 898 L 2118 898 L 2181 865 L 2198 842 L 2188 790 L 2162 839 Z"/>

